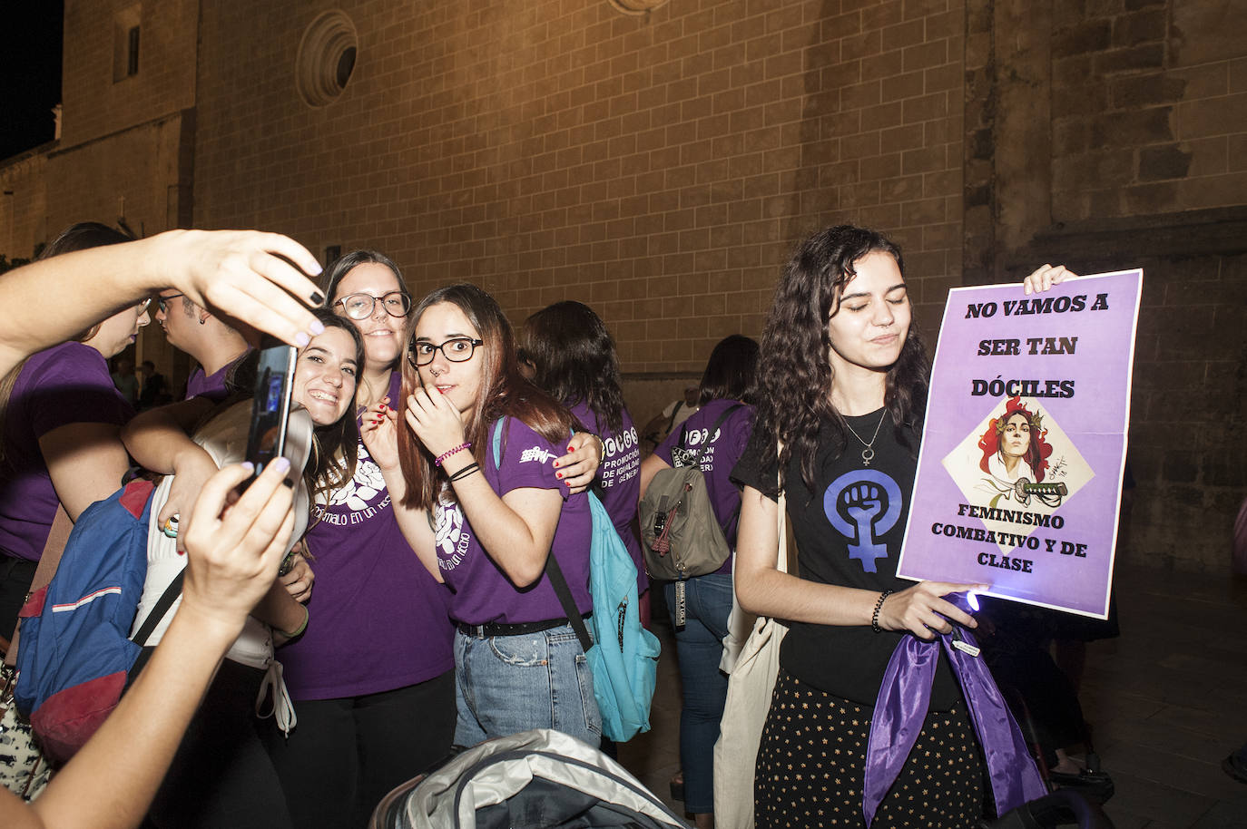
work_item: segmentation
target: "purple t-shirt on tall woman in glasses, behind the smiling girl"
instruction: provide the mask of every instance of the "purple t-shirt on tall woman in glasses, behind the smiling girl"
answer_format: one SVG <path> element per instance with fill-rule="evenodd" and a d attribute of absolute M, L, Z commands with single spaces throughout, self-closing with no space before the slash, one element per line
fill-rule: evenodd
<path fill-rule="evenodd" d="M 402 376 L 390 378 L 398 399 Z M 315 572 L 303 636 L 277 652 L 291 697 L 338 699 L 431 679 L 454 667 L 450 591 L 403 537 L 364 445 L 350 484 L 317 504 L 307 534 Z"/>

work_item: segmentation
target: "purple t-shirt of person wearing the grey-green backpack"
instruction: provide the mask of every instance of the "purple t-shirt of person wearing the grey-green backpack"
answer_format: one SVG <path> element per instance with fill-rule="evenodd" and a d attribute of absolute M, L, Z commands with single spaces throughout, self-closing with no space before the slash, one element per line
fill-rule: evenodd
<path fill-rule="evenodd" d="M 701 470 L 706 476 L 706 492 L 715 507 L 715 517 L 723 527 L 727 546 L 736 551 L 736 530 L 739 525 L 741 491 L 731 480 L 732 467 L 744 454 L 753 431 L 753 406 L 741 405 L 723 421 L 723 425 L 711 435 L 715 421 L 737 400 L 711 400 L 695 411 L 688 420 L 673 429 L 666 440 L 658 444 L 653 454 L 667 461 L 670 466 L 683 466 L 710 441 L 701 459 Z M 687 436 L 687 438 L 686 438 Z M 677 462 L 678 461 L 678 462 Z M 733 514 L 736 514 L 733 516 Z M 732 572 L 732 556 L 727 557 L 717 572 Z"/>

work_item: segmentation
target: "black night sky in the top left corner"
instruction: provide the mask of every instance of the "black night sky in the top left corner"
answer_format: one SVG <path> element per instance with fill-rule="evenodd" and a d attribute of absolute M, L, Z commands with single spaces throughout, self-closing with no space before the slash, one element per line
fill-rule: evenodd
<path fill-rule="evenodd" d="M 60 0 L 5 4 L 0 47 L 0 161 L 51 141 L 51 108 L 61 100 Z"/>

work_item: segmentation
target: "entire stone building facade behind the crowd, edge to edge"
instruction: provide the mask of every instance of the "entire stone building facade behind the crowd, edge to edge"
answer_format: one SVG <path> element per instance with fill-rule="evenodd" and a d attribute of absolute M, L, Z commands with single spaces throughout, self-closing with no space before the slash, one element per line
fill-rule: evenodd
<path fill-rule="evenodd" d="M 515 322 L 582 299 L 642 421 L 715 342 L 761 332 L 793 242 L 827 223 L 903 246 L 932 335 L 955 285 L 1142 266 L 1131 555 L 1226 567 L 1247 490 L 1247 7 L 651 5 L 66 0 L 62 138 L 0 166 L 6 191 L 44 182 L 0 251 L 123 196 L 147 233 L 378 247 L 416 293 L 478 282 Z"/>

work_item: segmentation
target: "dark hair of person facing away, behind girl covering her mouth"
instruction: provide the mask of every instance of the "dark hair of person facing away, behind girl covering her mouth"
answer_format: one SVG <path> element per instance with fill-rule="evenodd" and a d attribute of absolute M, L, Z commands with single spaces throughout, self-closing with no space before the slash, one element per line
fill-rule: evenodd
<path fill-rule="evenodd" d="M 624 428 L 615 340 L 592 308 L 566 300 L 532 314 L 520 332 L 519 357 L 532 364 L 532 381 L 556 400 L 586 404 L 611 434 Z"/>

